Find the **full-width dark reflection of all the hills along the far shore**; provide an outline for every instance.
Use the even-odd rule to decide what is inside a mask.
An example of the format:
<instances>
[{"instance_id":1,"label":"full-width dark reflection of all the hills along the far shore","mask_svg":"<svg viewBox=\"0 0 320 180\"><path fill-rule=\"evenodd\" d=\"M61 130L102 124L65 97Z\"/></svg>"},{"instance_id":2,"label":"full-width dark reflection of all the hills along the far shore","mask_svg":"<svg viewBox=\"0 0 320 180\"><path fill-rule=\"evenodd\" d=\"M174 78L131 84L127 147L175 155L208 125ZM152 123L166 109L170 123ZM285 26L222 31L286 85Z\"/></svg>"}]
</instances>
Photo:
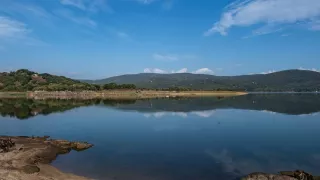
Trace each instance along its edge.
<instances>
[{"instance_id":1,"label":"full-width dark reflection of all the hills along the far shore","mask_svg":"<svg viewBox=\"0 0 320 180\"><path fill-rule=\"evenodd\" d=\"M151 100L34 100L0 99L1 116L27 119L82 106L99 105L138 112L192 112L215 109L266 110L284 114L310 114L320 111L319 94L257 94L232 98L182 98Z\"/></svg>"}]
</instances>

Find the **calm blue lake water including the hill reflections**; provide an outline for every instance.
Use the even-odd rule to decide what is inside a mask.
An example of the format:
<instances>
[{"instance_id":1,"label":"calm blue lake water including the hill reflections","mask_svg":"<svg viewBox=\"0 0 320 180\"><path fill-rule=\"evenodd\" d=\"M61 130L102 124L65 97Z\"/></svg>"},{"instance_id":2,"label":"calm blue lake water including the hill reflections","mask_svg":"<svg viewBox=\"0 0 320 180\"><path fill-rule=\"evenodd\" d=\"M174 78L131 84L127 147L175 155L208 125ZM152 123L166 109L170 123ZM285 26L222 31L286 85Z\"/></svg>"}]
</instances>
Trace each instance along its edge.
<instances>
[{"instance_id":1,"label":"calm blue lake water including the hill reflections","mask_svg":"<svg viewBox=\"0 0 320 180\"><path fill-rule=\"evenodd\" d=\"M95 146L59 156L65 172L108 180L234 180L320 174L320 94L110 100L0 99L1 135Z\"/></svg>"}]
</instances>

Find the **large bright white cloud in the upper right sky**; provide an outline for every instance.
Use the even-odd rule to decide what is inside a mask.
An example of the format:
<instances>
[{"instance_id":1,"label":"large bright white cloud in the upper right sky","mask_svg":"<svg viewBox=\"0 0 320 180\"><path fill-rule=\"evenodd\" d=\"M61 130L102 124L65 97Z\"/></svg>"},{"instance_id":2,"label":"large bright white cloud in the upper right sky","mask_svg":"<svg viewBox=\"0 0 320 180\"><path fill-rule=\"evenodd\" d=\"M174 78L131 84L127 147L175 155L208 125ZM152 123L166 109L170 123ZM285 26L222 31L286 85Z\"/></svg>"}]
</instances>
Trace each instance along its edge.
<instances>
[{"instance_id":1,"label":"large bright white cloud in the upper right sky","mask_svg":"<svg viewBox=\"0 0 320 180\"><path fill-rule=\"evenodd\" d=\"M262 35L279 31L283 25L317 22L319 19L319 0L237 0L225 8L221 19L205 35L227 35L228 30L235 26L264 24L266 30L253 32ZM317 27L315 25L313 29L318 30Z\"/></svg>"}]
</instances>

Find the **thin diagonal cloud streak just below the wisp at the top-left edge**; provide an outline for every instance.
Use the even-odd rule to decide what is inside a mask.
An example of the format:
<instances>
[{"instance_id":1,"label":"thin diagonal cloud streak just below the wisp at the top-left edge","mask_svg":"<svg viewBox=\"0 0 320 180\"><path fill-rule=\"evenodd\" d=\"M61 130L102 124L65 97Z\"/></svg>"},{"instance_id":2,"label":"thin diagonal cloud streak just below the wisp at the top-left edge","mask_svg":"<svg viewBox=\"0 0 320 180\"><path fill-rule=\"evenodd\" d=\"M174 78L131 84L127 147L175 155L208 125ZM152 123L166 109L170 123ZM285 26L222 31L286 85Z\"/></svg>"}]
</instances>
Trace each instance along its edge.
<instances>
[{"instance_id":1,"label":"thin diagonal cloud streak just below the wisp at the top-left edge","mask_svg":"<svg viewBox=\"0 0 320 180\"><path fill-rule=\"evenodd\" d=\"M85 17L85 16L77 16L73 13L73 11L69 11L67 9L59 9L59 10L55 10L53 12L55 15L60 16L62 18L65 18L69 21L72 21L74 23L80 24L80 25L84 25L87 27L91 27L94 28L97 26L97 23L92 20L89 17Z\"/></svg>"}]
</instances>

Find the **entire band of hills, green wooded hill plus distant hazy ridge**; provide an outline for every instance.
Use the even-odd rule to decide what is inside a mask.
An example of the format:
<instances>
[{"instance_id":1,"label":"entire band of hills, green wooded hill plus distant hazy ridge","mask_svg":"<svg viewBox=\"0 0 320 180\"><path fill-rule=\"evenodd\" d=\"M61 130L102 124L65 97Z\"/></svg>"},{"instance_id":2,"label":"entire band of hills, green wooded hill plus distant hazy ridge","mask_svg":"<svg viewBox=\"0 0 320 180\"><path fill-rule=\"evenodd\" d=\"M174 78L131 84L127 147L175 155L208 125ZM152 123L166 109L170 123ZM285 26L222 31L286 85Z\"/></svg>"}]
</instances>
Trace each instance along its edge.
<instances>
[{"instance_id":1,"label":"entire band of hills, green wooded hill plus distant hazy ridge","mask_svg":"<svg viewBox=\"0 0 320 180\"><path fill-rule=\"evenodd\" d=\"M127 89L126 85L129 84L130 87L139 89L162 90L319 92L320 73L307 70L285 70L270 74L242 76L142 73L101 80L74 80L64 76L37 73L26 69L0 73L0 91L96 91L110 89L109 87L114 87L112 89Z\"/></svg>"}]
</instances>

